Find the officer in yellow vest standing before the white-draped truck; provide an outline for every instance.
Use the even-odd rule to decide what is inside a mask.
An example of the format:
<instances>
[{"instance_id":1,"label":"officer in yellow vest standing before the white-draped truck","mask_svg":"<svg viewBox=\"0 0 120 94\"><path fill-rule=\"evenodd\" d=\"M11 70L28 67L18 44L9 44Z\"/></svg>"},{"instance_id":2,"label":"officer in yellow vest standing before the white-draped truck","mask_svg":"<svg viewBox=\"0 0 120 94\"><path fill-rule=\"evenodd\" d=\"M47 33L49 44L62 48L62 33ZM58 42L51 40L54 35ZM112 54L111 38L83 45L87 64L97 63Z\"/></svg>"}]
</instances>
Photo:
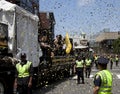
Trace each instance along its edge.
<instances>
[{"instance_id":1,"label":"officer in yellow vest standing before the white-draped truck","mask_svg":"<svg viewBox=\"0 0 120 94\"><path fill-rule=\"evenodd\" d=\"M18 94L32 94L32 62L26 60L26 53L21 53L21 61L16 64L14 89Z\"/></svg>"}]
</instances>

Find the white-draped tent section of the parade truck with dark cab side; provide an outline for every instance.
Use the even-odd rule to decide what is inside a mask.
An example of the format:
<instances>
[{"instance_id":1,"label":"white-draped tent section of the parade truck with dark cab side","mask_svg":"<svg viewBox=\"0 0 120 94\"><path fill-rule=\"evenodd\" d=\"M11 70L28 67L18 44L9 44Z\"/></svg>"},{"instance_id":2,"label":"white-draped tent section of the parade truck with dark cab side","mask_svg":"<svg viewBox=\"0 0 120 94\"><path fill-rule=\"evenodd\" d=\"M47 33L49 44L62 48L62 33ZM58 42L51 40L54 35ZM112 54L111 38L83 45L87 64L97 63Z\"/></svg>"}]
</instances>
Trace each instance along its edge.
<instances>
[{"instance_id":1,"label":"white-draped tent section of the parade truck with dark cab side","mask_svg":"<svg viewBox=\"0 0 120 94\"><path fill-rule=\"evenodd\" d=\"M38 17L23 8L0 1L0 93L12 94L15 63L24 51L33 67L39 63Z\"/></svg>"}]
</instances>

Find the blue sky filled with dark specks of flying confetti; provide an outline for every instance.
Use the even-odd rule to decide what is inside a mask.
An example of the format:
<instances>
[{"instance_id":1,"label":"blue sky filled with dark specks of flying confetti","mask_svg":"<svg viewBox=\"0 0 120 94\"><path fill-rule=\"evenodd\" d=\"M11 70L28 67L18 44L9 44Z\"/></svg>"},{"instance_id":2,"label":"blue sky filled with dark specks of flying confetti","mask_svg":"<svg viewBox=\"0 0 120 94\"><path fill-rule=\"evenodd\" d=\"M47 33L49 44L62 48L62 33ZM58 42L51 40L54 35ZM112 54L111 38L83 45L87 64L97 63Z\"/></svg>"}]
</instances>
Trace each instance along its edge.
<instances>
[{"instance_id":1,"label":"blue sky filled with dark specks of flying confetti","mask_svg":"<svg viewBox=\"0 0 120 94\"><path fill-rule=\"evenodd\" d=\"M40 0L40 11L54 13L56 35L120 31L120 0Z\"/></svg>"}]
</instances>

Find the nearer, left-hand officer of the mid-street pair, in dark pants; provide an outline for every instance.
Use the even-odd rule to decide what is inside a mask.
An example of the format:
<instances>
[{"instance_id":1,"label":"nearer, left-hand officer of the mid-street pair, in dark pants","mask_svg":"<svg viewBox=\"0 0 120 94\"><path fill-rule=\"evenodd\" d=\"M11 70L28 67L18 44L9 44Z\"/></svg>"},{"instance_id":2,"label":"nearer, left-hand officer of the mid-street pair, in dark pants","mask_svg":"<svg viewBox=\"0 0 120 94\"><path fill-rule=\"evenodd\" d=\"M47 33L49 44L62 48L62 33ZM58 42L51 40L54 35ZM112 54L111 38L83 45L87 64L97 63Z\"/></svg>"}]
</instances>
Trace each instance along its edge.
<instances>
[{"instance_id":1,"label":"nearer, left-hand officer of the mid-street pair, in dark pants","mask_svg":"<svg viewBox=\"0 0 120 94\"><path fill-rule=\"evenodd\" d=\"M77 72L77 84L80 84L80 78L82 79L82 84L84 84L84 61L82 60L82 57L78 57L78 60L76 61L76 72Z\"/></svg>"}]
</instances>

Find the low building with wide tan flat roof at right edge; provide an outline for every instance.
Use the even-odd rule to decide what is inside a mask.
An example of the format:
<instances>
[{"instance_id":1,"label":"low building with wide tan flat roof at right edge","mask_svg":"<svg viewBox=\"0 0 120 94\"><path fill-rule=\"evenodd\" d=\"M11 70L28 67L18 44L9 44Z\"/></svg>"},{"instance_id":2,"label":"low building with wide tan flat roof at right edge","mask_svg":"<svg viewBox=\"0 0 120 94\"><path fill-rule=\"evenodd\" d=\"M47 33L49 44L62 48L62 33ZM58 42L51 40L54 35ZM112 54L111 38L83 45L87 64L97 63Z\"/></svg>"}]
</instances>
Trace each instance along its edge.
<instances>
[{"instance_id":1,"label":"low building with wide tan flat roof at right edge","mask_svg":"<svg viewBox=\"0 0 120 94\"><path fill-rule=\"evenodd\" d=\"M119 37L119 32L101 32L95 39L98 45L98 53L111 53L113 41Z\"/></svg>"}]
</instances>

